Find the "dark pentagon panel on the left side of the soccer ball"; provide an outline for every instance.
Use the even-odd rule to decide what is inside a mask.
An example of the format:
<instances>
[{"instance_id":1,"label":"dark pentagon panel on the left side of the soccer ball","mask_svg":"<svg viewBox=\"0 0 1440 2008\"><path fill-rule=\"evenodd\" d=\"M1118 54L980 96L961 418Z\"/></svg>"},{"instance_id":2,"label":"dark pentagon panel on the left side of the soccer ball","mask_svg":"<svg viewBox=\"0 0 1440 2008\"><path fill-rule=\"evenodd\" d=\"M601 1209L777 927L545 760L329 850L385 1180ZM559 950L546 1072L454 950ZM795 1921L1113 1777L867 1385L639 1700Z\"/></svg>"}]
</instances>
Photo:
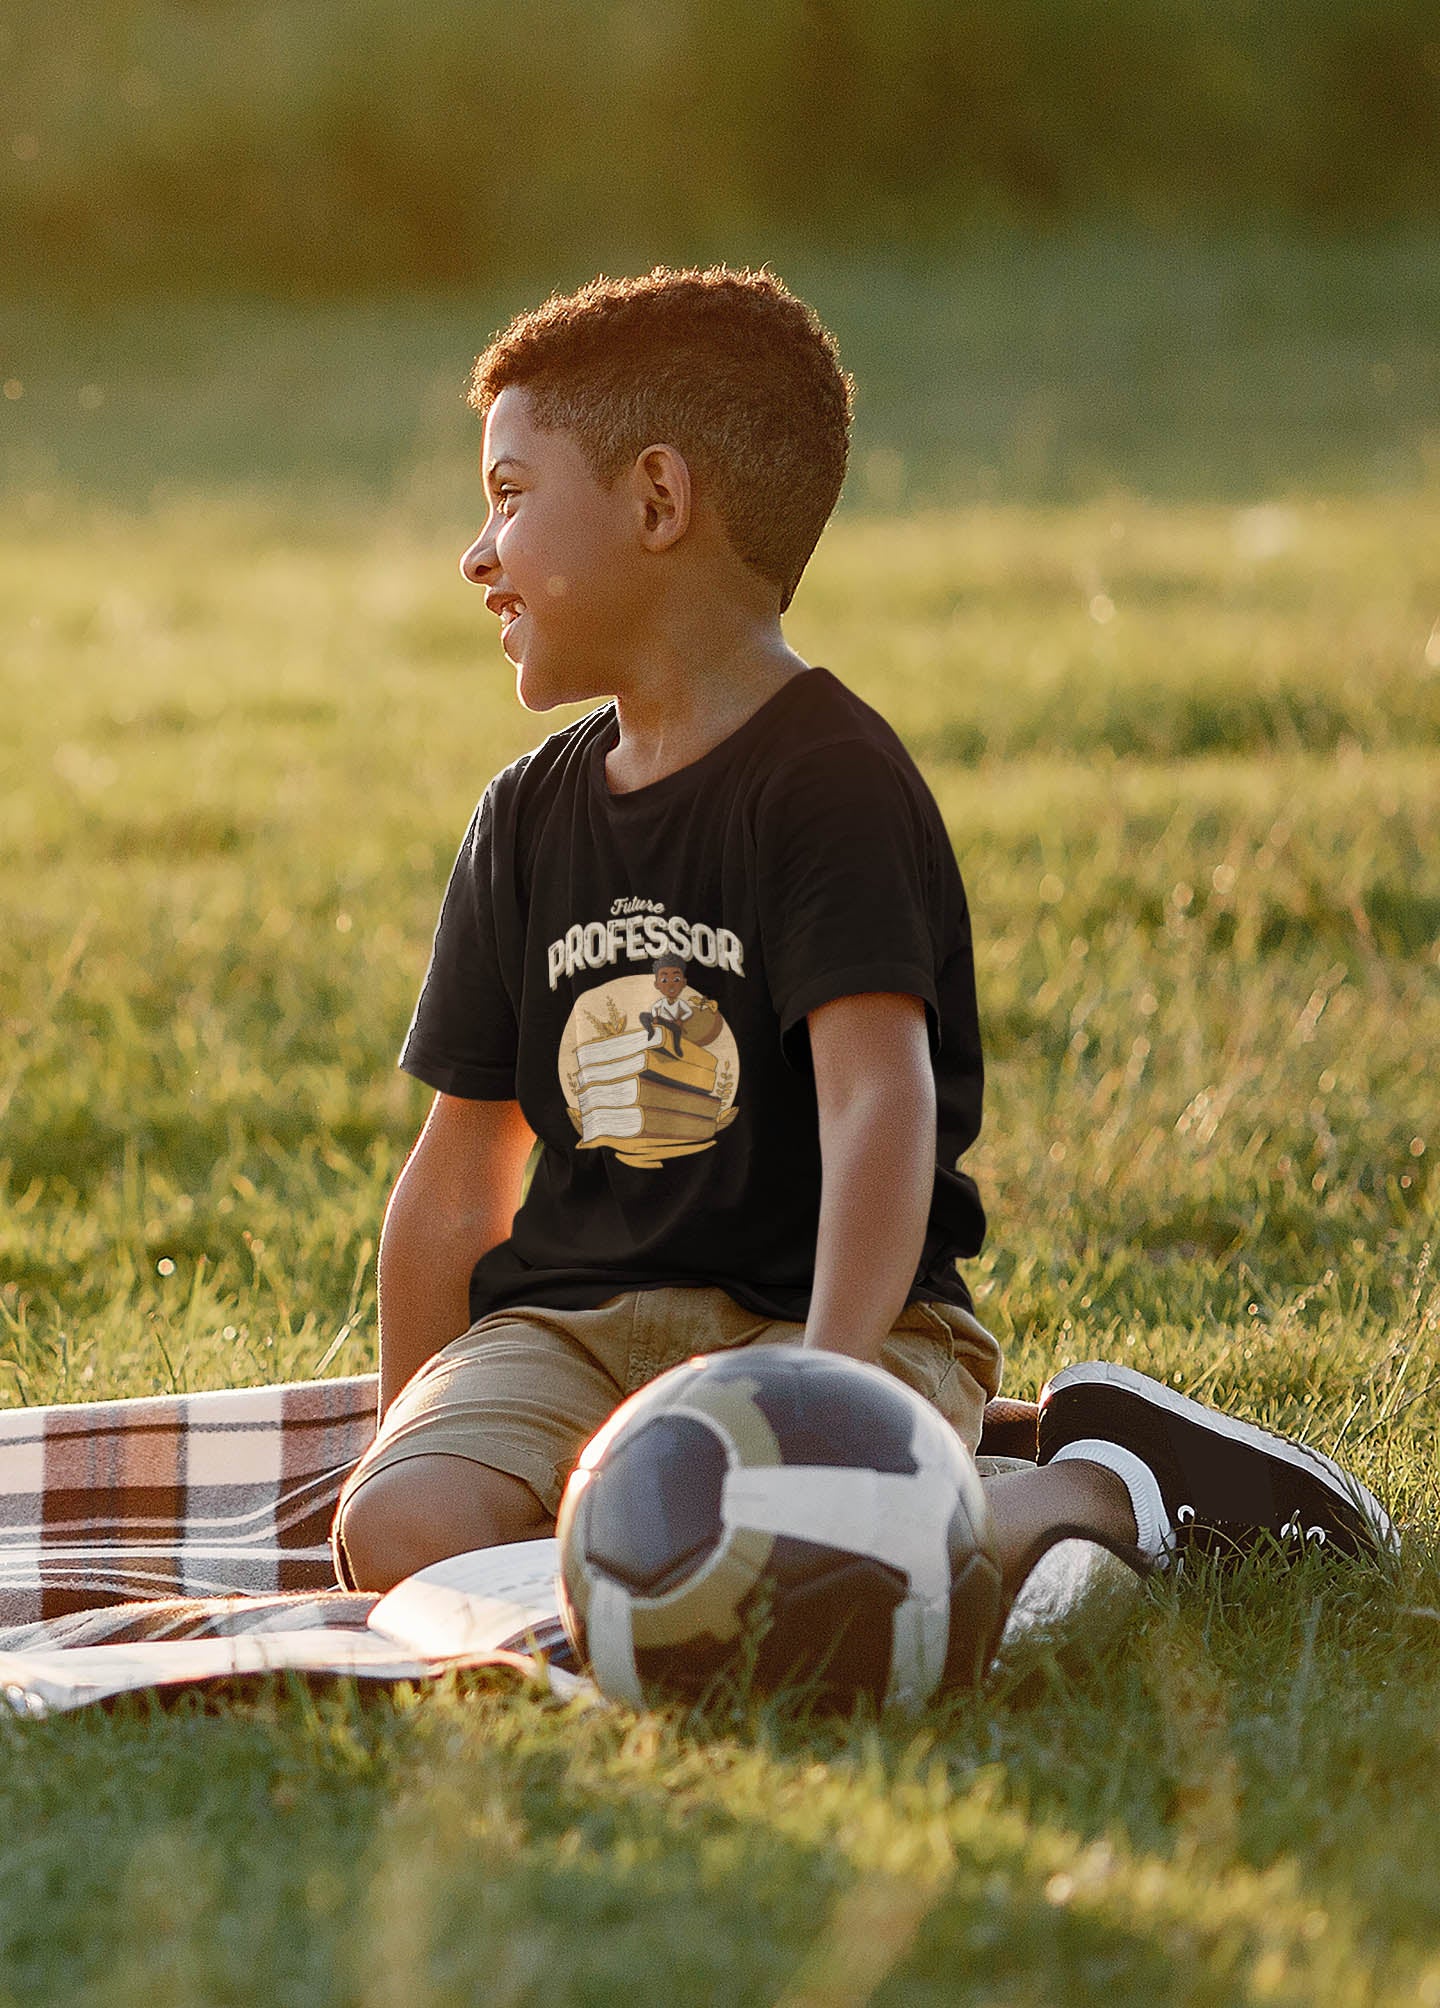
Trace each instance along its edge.
<instances>
[{"instance_id":1,"label":"dark pentagon panel on the left side of the soccer ball","mask_svg":"<svg viewBox=\"0 0 1440 2008\"><path fill-rule=\"evenodd\" d=\"M590 1478L584 1548L627 1590L663 1596L725 1532L725 1444L691 1416L653 1416Z\"/></svg>"}]
</instances>

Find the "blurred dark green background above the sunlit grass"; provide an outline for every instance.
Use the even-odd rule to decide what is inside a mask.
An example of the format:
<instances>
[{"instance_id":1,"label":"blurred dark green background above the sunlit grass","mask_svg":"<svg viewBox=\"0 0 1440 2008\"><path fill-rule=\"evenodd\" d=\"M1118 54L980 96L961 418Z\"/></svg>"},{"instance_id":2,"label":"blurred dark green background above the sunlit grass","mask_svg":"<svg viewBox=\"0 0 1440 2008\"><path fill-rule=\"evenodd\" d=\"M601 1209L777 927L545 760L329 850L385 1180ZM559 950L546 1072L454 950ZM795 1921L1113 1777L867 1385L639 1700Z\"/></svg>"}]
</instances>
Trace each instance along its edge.
<instances>
[{"instance_id":1,"label":"blurred dark green background above the sunlit grass","mask_svg":"<svg viewBox=\"0 0 1440 2008\"><path fill-rule=\"evenodd\" d=\"M452 520L488 331L715 257L837 329L850 506L1404 490L1440 470L1440 14L10 0L0 245L32 514L221 482Z\"/></svg>"}]
</instances>

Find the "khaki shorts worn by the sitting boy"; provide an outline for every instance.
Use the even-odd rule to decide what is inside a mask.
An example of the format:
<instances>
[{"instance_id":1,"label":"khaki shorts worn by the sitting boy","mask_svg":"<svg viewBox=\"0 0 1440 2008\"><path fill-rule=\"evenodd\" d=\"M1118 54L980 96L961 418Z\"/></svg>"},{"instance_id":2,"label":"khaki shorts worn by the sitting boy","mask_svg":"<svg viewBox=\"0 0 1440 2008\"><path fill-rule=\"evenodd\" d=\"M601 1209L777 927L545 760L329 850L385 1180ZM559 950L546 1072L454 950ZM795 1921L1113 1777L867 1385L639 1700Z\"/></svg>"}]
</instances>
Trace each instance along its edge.
<instances>
[{"instance_id":1,"label":"khaki shorts worn by the sitting boy","mask_svg":"<svg viewBox=\"0 0 1440 2008\"><path fill-rule=\"evenodd\" d=\"M637 1388L693 1353L795 1345L803 1331L703 1287L635 1289L590 1311L492 1311L400 1390L345 1480L339 1510L378 1470L446 1456L520 1478L554 1514L576 1458ZM952 1303L912 1303L880 1361L974 1450L984 1404L1000 1386L1000 1347L984 1325Z\"/></svg>"}]
</instances>

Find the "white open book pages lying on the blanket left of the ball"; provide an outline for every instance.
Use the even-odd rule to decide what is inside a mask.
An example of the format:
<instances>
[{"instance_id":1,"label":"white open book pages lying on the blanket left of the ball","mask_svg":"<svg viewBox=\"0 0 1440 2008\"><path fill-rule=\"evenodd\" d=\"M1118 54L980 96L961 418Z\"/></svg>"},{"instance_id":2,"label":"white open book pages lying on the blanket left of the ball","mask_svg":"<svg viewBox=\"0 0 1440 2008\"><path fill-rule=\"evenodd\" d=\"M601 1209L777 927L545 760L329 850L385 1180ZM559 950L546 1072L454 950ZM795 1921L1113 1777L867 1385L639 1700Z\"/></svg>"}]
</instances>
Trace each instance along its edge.
<instances>
[{"instance_id":1,"label":"white open book pages lying on the blanket left of the ball","mask_svg":"<svg viewBox=\"0 0 1440 2008\"><path fill-rule=\"evenodd\" d=\"M267 1673L426 1681L452 1667L508 1667L542 1679L558 1697L592 1695L588 1681L544 1659L562 1637L556 1566L554 1540L524 1540L406 1576L364 1626L0 1653L0 1701L16 1715L40 1717L114 1695ZM315 1598L297 1602L313 1608Z\"/></svg>"}]
</instances>

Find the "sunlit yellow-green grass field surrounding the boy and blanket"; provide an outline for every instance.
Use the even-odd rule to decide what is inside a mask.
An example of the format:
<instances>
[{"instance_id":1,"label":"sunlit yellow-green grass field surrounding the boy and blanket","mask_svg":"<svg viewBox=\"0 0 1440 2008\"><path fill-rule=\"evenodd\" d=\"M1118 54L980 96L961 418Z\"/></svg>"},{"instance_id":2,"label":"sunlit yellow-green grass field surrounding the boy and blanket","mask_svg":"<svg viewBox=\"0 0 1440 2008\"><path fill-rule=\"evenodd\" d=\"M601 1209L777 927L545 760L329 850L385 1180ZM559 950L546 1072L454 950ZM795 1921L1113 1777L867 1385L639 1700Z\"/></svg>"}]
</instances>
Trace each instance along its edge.
<instances>
[{"instance_id":1,"label":"sunlit yellow-green grass field surrounding the boy and blanket","mask_svg":"<svg viewBox=\"0 0 1440 2008\"><path fill-rule=\"evenodd\" d=\"M42 450L0 552L0 1394L359 1371L394 1052L536 721L404 484L237 496L197 448L135 506ZM966 873L1010 1392L1123 1357L1338 1448L1398 1578L1165 1584L920 1733L0 1721L0 2002L1440 2004L1440 492L1281 488L856 508L791 639Z\"/></svg>"}]
</instances>

